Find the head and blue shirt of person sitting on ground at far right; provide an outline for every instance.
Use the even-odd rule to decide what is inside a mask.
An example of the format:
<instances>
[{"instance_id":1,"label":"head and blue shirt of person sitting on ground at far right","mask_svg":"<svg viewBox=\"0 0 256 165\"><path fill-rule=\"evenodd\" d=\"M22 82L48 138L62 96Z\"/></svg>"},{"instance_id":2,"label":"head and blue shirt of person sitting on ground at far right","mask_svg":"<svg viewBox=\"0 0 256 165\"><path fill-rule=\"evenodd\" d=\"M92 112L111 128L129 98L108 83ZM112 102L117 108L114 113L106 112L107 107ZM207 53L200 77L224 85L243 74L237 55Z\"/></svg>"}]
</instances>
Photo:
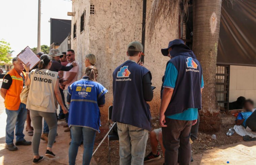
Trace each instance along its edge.
<instances>
[{"instance_id":1,"label":"head and blue shirt of person sitting on ground at far right","mask_svg":"<svg viewBox=\"0 0 256 165\"><path fill-rule=\"evenodd\" d=\"M246 100L244 102L245 112L240 112L237 115L235 124L236 125L243 125L246 128L246 120L248 119L248 117L251 116L251 114L253 112L253 108L254 108L254 102L251 99Z\"/></svg>"}]
</instances>

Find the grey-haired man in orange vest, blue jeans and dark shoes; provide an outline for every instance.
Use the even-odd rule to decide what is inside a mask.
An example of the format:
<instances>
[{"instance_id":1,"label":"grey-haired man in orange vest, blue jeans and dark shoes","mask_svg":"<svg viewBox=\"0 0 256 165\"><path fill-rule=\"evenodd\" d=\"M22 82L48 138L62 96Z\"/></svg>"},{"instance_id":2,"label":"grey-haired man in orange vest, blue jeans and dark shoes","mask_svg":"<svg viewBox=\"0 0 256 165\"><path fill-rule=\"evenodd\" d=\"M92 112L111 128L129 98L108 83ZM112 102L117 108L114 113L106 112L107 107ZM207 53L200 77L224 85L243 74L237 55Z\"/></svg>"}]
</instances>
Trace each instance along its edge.
<instances>
[{"instance_id":1,"label":"grey-haired man in orange vest, blue jeans and dark shoes","mask_svg":"<svg viewBox=\"0 0 256 165\"><path fill-rule=\"evenodd\" d=\"M25 86L26 73L23 62L14 57L12 59L13 69L10 70L3 79L1 87L1 96L4 98L4 105L7 114L6 119L6 148L10 151L16 151L19 145L28 146L31 142L24 139L23 129L27 119L26 105L21 103L20 94ZM16 143L13 145L14 127Z\"/></svg>"}]
</instances>

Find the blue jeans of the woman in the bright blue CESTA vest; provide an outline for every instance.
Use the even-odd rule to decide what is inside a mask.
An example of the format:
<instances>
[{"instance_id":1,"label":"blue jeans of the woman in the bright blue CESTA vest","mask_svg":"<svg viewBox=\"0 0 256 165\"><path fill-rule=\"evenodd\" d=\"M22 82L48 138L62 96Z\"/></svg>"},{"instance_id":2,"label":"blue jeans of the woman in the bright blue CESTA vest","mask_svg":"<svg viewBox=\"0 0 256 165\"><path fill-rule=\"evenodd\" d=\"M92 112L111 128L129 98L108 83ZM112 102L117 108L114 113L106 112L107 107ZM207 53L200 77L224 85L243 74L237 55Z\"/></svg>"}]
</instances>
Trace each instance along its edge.
<instances>
[{"instance_id":1,"label":"blue jeans of the woman in the bright blue CESTA vest","mask_svg":"<svg viewBox=\"0 0 256 165\"><path fill-rule=\"evenodd\" d=\"M83 165L89 165L93 155L96 130L86 127L71 126L72 140L69 147L69 165L74 165L78 147L83 137ZM82 136L83 135L83 136Z\"/></svg>"}]
</instances>

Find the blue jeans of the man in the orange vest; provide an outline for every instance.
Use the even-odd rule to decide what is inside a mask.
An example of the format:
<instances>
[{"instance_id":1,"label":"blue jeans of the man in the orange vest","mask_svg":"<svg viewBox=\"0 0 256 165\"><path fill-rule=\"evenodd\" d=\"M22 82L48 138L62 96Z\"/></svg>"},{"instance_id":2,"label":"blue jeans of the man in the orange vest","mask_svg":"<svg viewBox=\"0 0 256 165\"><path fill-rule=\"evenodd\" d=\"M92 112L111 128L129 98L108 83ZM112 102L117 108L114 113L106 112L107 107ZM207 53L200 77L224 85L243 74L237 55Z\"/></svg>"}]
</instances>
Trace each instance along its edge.
<instances>
[{"instance_id":1,"label":"blue jeans of the man in the orange vest","mask_svg":"<svg viewBox=\"0 0 256 165\"><path fill-rule=\"evenodd\" d=\"M21 103L17 111L5 109L5 112L7 114L6 135L5 135L5 141L7 145L13 144L14 127L16 127L15 129L16 142L23 141L25 136L23 134L23 129L24 129L25 121L27 119L26 105Z\"/></svg>"}]
</instances>

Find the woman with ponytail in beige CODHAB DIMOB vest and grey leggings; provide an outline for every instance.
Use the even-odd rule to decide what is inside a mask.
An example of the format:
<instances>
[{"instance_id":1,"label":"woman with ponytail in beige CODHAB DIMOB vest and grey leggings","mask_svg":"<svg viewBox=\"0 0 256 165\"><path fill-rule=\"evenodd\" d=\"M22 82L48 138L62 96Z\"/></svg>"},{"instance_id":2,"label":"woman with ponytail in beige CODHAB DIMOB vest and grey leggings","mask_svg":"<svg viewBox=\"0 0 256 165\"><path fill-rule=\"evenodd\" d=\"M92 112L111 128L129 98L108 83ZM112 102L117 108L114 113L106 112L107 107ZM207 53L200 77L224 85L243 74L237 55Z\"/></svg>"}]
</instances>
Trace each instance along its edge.
<instances>
[{"instance_id":1,"label":"woman with ponytail in beige CODHAB DIMOB vest and grey leggings","mask_svg":"<svg viewBox=\"0 0 256 165\"><path fill-rule=\"evenodd\" d=\"M56 99L61 105L63 112L68 113L59 90L58 72L49 70L51 67L51 57L44 54L40 59L38 69L32 70L25 80L26 86L30 85L26 108L30 110L30 117L34 126L32 138L33 164L43 160L43 156L39 156L38 152L42 133L42 118L49 125L48 145L45 156L53 158L55 155L52 153L51 148L57 134ZM29 65L26 65L25 69L29 69Z\"/></svg>"}]
</instances>

